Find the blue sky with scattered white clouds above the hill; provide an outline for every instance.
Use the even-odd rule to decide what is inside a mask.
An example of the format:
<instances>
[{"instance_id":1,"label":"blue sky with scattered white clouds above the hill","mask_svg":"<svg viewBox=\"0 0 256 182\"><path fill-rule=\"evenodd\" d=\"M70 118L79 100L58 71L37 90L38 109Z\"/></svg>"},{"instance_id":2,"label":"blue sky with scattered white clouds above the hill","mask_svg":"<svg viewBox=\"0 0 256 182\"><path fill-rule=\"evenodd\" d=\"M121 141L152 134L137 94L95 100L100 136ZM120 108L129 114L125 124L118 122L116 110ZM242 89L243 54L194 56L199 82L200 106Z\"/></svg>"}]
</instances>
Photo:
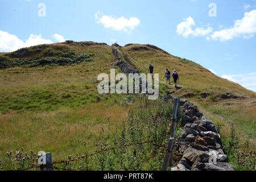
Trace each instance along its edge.
<instances>
[{"instance_id":1,"label":"blue sky with scattered white clouds above the hill","mask_svg":"<svg viewBox=\"0 0 256 182\"><path fill-rule=\"evenodd\" d=\"M256 92L255 0L0 0L0 22L0 52L65 40L153 44Z\"/></svg>"}]
</instances>

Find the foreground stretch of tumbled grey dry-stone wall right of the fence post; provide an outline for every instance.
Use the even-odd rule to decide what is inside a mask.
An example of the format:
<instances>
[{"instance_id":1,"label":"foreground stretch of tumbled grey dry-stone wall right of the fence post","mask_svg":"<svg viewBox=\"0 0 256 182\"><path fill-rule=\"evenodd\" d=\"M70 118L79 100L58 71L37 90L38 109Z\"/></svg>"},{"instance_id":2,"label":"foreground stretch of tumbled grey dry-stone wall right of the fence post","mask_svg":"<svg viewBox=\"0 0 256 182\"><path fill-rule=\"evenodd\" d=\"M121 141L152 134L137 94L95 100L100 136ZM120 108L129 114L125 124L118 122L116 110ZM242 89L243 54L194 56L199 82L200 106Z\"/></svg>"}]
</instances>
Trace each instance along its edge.
<instances>
[{"instance_id":1,"label":"foreground stretch of tumbled grey dry-stone wall right of the fence post","mask_svg":"<svg viewBox=\"0 0 256 182\"><path fill-rule=\"evenodd\" d=\"M214 123L187 100L181 99L180 106L185 122L175 143L180 171L233 171L232 164L226 163L227 156ZM177 167L171 169L177 171Z\"/></svg>"}]
</instances>

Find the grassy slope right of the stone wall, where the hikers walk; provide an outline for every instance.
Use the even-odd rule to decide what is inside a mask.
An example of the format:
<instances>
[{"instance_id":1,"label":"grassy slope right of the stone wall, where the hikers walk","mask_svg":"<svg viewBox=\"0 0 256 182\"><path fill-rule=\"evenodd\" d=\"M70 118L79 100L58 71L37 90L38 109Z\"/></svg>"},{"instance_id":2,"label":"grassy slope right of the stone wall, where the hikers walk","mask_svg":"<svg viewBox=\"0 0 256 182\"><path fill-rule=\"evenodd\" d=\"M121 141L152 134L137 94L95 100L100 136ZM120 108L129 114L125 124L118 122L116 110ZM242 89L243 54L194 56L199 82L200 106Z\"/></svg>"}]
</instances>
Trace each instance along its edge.
<instances>
[{"instance_id":1,"label":"grassy slope right of the stone wall, where the hikers walk","mask_svg":"<svg viewBox=\"0 0 256 182\"><path fill-rule=\"evenodd\" d=\"M148 50L145 50L147 49ZM179 57L168 55L162 51L149 48L146 45L133 44L119 49L126 57L133 61L135 67L141 72L147 72L148 64L153 64L155 73L159 73L160 82L166 82L164 71L176 69L180 75L178 85L183 88L176 90L174 85L170 86L170 92L174 91L174 95L184 97L188 93L195 94L188 98L191 102L198 105L200 110L204 112L214 122L224 125L222 127L222 135L228 137L228 122L234 122L237 125L237 132L242 140L249 137L255 144L256 138L256 104L243 105L225 105L226 102L246 103L255 101L256 93L243 88L242 86L220 78L201 65L192 61L180 59ZM211 96L201 98L200 93L207 92ZM218 95L224 93L233 93L237 96L246 96L245 99L220 100ZM245 138L244 138L245 137Z\"/></svg>"}]
</instances>

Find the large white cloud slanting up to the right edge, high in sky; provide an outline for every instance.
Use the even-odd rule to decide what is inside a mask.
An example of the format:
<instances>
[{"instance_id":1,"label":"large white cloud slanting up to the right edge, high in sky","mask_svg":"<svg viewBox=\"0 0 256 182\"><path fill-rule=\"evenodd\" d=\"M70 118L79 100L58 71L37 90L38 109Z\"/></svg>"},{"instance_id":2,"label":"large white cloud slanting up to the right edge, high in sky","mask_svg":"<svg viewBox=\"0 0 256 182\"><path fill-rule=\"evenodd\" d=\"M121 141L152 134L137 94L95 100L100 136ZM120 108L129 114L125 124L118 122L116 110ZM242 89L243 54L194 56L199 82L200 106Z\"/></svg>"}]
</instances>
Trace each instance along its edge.
<instances>
[{"instance_id":1,"label":"large white cloud slanting up to the right edge, high in sky","mask_svg":"<svg viewBox=\"0 0 256 182\"><path fill-rule=\"evenodd\" d=\"M220 40L224 42L240 36L248 39L253 37L255 33L256 10L252 10L250 12L246 12L242 19L236 20L233 27L213 32L213 34L208 36L207 39Z\"/></svg>"}]
</instances>

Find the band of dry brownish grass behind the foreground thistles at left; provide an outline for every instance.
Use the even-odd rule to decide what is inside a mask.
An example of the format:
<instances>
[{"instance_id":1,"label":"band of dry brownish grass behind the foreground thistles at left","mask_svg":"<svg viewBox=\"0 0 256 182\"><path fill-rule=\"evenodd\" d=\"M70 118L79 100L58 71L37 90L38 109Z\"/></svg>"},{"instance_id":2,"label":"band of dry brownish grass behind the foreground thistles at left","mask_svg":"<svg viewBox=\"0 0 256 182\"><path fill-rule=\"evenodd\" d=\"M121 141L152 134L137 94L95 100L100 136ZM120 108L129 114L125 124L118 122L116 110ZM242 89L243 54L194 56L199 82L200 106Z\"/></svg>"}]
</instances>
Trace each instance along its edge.
<instances>
[{"instance_id":1,"label":"band of dry brownish grass behind the foreground thistles at left","mask_svg":"<svg viewBox=\"0 0 256 182\"><path fill-rule=\"evenodd\" d=\"M52 151L55 160L79 154L83 140L90 141L89 148L99 140L110 142L132 107L94 104L76 110L0 115L0 154L22 147L25 151Z\"/></svg>"}]
</instances>

